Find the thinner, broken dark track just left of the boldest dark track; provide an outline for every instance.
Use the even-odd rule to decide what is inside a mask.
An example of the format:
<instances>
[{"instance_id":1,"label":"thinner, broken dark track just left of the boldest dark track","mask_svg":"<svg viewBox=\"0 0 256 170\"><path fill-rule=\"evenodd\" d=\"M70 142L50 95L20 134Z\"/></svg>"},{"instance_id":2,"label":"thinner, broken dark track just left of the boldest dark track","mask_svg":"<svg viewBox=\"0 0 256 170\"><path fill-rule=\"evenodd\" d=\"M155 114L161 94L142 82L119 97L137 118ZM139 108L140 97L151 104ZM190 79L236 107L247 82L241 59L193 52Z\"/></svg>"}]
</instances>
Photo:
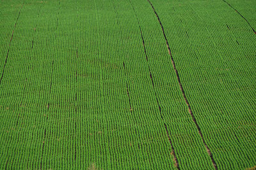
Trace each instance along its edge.
<instances>
[{"instance_id":1,"label":"thinner, broken dark track just left of the boldest dark track","mask_svg":"<svg viewBox=\"0 0 256 170\"><path fill-rule=\"evenodd\" d=\"M131 0L129 0L129 1L130 1L130 3L131 3ZM138 16L137 16L137 14L136 14L136 11L135 11L134 6L133 6L132 3L131 3L131 6L132 6L132 9L133 9L134 14L135 14L135 16L136 16L136 19L137 19L137 22L138 22L138 26L139 26L139 28L140 28L140 35L141 35L141 39L142 39L142 43L143 43L144 53L145 53L146 60L147 60L147 62L148 62L148 55L147 55L147 50L146 50L146 48L145 48L145 40L144 40L144 38L143 38L143 34L142 34L141 26L140 26L140 21L139 21L139 19L138 19ZM153 89L154 89L154 93L155 93L155 96L156 96L156 102L157 102L157 106L158 106L158 108L159 108L159 113L160 113L161 119L164 120L163 115L162 115L162 111L161 111L161 106L160 106L159 101L158 101L158 97L157 97L157 93L156 93L156 88L155 88L155 85L154 85L154 80L153 80L153 76L152 76L152 73L151 73L149 64L148 64L148 72L149 72L149 76L150 76L150 80L151 80L151 83L152 83L152 87L153 87ZM163 123L164 123L164 122L163 122ZM173 147L173 143L172 143L172 140L171 140L171 138L170 138L170 134L169 134L169 132L168 132L167 125L166 125L165 123L164 123L164 129L165 129L165 131L166 131L166 134L167 134L169 143L170 143L171 148L172 148L172 153L171 153L171 154L173 155L173 162L174 162L174 165L175 165L175 167L177 167L177 169L180 169L179 163L178 163L178 160L177 160L177 156L176 156L176 154L175 154L175 150L174 150L174 147Z\"/></svg>"}]
</instances>

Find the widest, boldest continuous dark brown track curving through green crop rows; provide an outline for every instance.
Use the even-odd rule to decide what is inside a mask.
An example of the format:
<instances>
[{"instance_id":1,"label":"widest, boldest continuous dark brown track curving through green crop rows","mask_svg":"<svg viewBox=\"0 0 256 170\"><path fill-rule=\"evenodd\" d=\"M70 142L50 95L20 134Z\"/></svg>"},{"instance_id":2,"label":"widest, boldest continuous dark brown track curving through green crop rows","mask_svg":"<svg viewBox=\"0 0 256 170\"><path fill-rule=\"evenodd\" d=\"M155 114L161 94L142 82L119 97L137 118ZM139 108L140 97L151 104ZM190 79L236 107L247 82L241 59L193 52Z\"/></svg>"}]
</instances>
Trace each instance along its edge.
<instances>
[{"instance_id":1,"label":"widest, boldest continuous dark brown track curving through green crop rows","mask_svg":"<svg viewBox=\"0 0 256 170\"><path fill-rule=\"evenodd\" d=\"M171 50L170 50L170 46L169 46L168 40L167 40L166 35L165 35L165 32L164 32L163 24L161 23L161 20L160 20L160 18L159 18L159 16L158 16L158 14L157 14L157 12L156 12L156 10L155 10L153 4L150 2L150 0L147 0L147 1L148 1L148 3L150 4L150 6L152 7L152 10L153 10L154 13L156 14L157 20L158 20L159 24L161 25L161 29L162 29L162 32L163 32L163 36L164 36L164 39L165 39L165 41L166 41L166 46L167 46L167 48L168 48L168 53L169 53L169 55L170 55L170 57L171 57L171 60L172 60L172 66L173 66L173 69L174 69L174 71L175 71L175 73L176 73L176 77L177 77L177 80L178 80L178 82L179 82L179 87L180 87L180 90L181 90L181 92L182 92L182 96L183 96L183 98L184 98L184 100L185 100L185 102L186 102L186 104L187 104L187 106L188 106L189 114L191 115L191 117L192 117L192 119L193 119L193 122L194 122L195 125L196 125L196 128L197 128L197 130L198 130L198 133L199 133L199 135L200 135L200 137L201 137L201 139L202 139L202 141L203 141L203 143L204 143L204 146L205 146L205 148L206 148L206 150L207 150L207 153L208 153L209 157L211 157L211 161L212 161L212 165L214 166L214 169L218 169L218 167L216 166L216 162L215 162L215 160L214 160L213 157L212 157L211 150L209 149L209 147L208 147L207 144L205 143L204 136L203 136L203 134L202 134L202 132L201 132L201 129L200 129L198 123L196 122L195 115L193 114L193 112L192 112L192 110L191 110L191 107L190 107L190 105L189 105L189 103L188 103L188 99L187 99L187 97L186 97L186 95L185 95L185 92L184 92L184 89L183 89L183 87L182 87L182 83L181 83L181 81L180 81L179 73L178 73L178 70L177 70L177 68L176 68L176 66L175 66L175 62L174 62L173 57L172 57L172 53L171 53Z\"/></svg>"}]
</instances>

